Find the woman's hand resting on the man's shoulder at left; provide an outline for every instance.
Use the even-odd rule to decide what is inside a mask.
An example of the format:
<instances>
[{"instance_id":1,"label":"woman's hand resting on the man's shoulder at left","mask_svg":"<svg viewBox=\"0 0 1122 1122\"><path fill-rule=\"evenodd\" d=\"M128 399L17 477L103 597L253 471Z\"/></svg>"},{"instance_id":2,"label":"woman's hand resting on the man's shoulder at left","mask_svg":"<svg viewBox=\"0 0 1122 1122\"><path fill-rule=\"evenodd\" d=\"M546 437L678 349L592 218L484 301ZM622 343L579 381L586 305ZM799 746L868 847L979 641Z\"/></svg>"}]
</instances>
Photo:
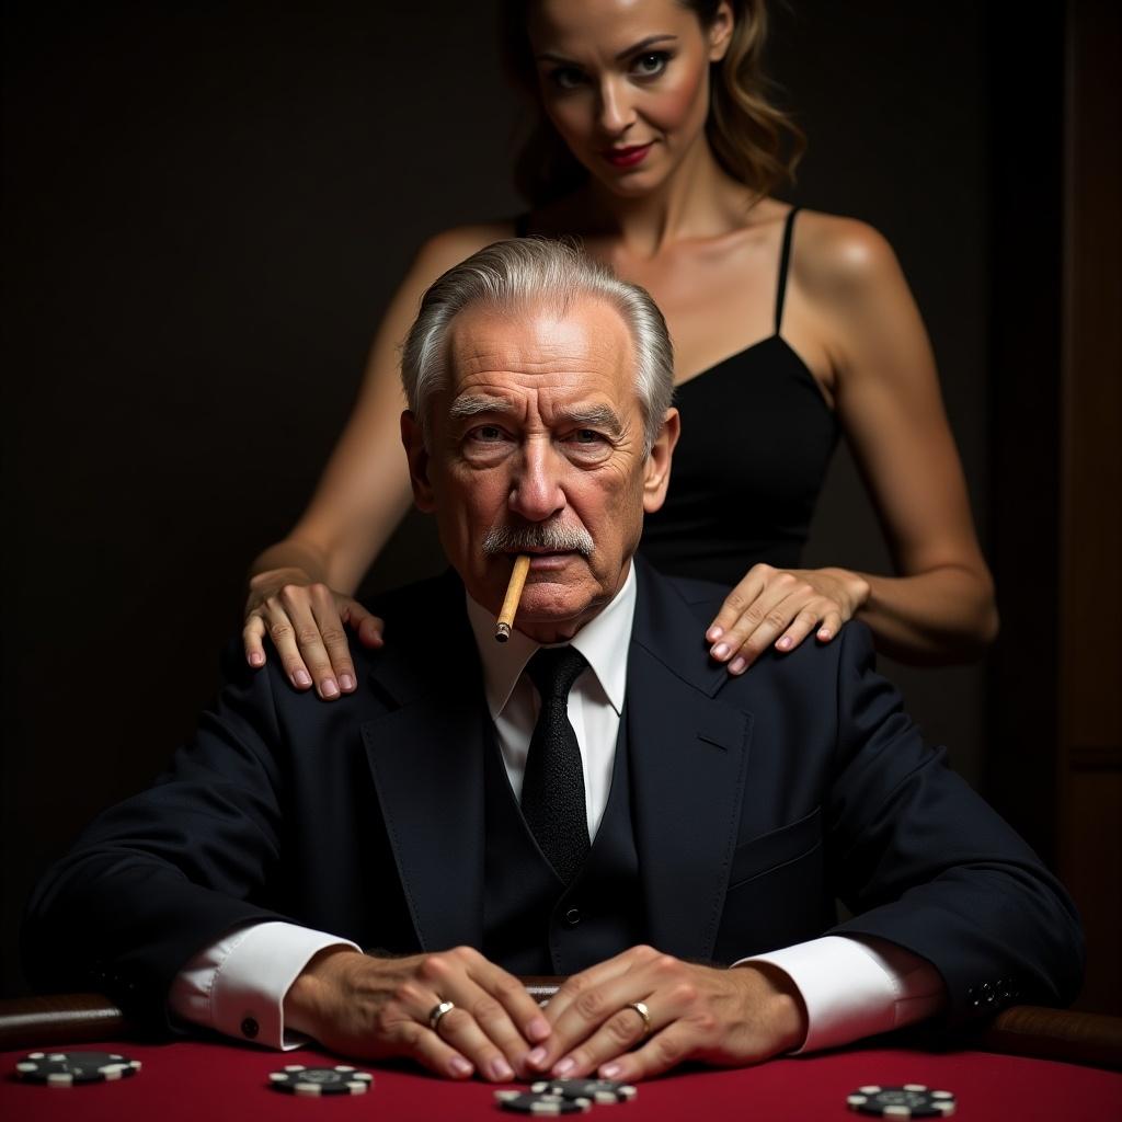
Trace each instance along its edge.
<instances>
[{"instance_id":1,"label":"woman's hand resting on the man's shoulder at left","mask_svg":"<svg viewBox=\"0 0 1122 1122\"><path fill-rule=\"evenodd\" d=\"M358 675L347 628L364 646L381 646L383 622L358 600L313 581L301 569L274 569L250 581L246 625L241 631L246 661L265 665L265 636L276 647L288 681L297 690L312 686L324 701L353 693Z\"/></svg>"}]
</instances>

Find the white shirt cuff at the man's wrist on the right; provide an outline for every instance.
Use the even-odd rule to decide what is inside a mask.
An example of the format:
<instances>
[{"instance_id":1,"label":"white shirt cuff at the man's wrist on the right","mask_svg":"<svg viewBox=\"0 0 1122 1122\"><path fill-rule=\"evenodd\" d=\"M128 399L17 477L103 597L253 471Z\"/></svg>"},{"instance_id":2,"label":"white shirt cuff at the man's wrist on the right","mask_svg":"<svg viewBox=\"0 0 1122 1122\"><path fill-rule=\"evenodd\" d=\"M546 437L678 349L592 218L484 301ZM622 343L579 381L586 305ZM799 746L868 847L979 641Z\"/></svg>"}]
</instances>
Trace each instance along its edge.
<instances>
[{"instance_id":1,"label":"white shirt cuff at the man's wrist on the right","mask_svg":"<svg viewBox=\"0 0 1122 1122\"><path fill-rule=\"evenodd\" d=\"M827 935L734 966L769 963L794 983L807 1009L797 1052L837 1048L937 1013L946 1000L939 972L885 939Z\"/></svg>"}]
</instances>

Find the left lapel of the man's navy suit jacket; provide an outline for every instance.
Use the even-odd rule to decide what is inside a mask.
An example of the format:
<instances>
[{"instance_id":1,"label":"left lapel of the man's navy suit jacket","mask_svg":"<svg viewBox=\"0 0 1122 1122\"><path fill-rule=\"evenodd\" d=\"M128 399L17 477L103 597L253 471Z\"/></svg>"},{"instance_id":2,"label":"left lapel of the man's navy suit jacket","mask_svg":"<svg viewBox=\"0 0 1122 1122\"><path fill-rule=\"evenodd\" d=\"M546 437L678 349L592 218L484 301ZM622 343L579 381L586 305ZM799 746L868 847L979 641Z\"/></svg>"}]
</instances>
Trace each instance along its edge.
<instances>
[{"instance_id":1,"label":"left lapel of the man's navy suit jacket","mask_svg":"<svg viewBox=\"0 0 1122 1122\"><path fill-rule=\"evenodd\" d=\"M482 945L486 828L479 656L460 585L445 581L434 601L425 606L432 626L414 616L410 631L431 637L439 628L439 662L395 631L373 675L388 711L362 726L413 926L429 951Z\"/></svg>"}]
</instances>

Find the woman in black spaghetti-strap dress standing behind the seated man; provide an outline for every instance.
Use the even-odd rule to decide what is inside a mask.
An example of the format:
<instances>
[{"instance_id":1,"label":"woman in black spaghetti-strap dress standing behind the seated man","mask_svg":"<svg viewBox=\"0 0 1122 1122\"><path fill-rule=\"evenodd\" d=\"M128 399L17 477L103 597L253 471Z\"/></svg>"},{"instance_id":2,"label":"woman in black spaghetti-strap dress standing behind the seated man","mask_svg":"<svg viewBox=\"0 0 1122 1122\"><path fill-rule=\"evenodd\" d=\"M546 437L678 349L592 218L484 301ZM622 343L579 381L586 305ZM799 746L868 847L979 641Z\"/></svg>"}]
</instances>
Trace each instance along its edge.
<instances>
[{"instance_id":1,"label":"woman in black spaghetti-strap dress standing behind the seated man","mask_svg":"<svg viewBox=\"0 0 1122 1122\"><path fill-rule=\"evenodd\" d=\"M517 168L534 210L421 250L310 507L254 564L250 663L270 635L297 688L356 688L344 628L368 644L381 635L351 594L410 503L396 348L429 284L523 233L580 238L665 314L683 435L643 551L736 585L705 636L729 672L769 645L828 642L853 617L904 661L955 661L992 641L992 581L892 250L861 222L795 219L770 197L793 164L784 136L799 138L763 95L763 0L507 0L504 26L542 110ZM838 427L894 576L797 568Z\"/></svg>"}]
</instances>

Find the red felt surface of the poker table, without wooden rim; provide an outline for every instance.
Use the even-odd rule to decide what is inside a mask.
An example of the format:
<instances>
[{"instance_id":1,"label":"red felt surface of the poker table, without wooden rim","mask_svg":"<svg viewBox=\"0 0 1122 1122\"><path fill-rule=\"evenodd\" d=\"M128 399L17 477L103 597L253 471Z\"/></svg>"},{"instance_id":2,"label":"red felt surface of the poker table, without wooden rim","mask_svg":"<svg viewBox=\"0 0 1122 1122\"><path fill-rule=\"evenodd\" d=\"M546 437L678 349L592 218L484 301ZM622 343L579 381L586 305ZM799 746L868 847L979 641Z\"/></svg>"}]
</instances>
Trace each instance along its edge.
<instances>
[{"instance_id":1,"label":"red felt surface of the poker table, without wooden rim","mask_svg":"<svg viewBox=\"0 0 1122 1122\"><path fill-rule=\"evenodd\" d=\"M362 1065L374 1074L365 1095L307 1098L268 1086L270 1072L286 1064L333 1066L316 1049L277 1054L240 1043L85 1042L74 1048L117 1051L141 1061L140 1072L111 1083L47 1087L15 1076L28 1050L0 1054L0 1118L21 1122L200 1122L251 1119L392 1119L456 1122L512 1118L498 1110L495 1086L452 1083L399 1066ZM48 1050L66 1050L53 1042ZM1057 1060L977 1050L930 1052L893 1047L855 1047L803 1058L776 1059L739 1070L692 1069L642 1083L637 1096L591 1113L619 1122L669 1122L700 1114L756 1122L856 1119L846 1095L866 1084L922 1083L953 1091L962 1122L1039 1119L1080 1122L1122 1119L1122 1074Z\"/></svg>"}]
</instances>

